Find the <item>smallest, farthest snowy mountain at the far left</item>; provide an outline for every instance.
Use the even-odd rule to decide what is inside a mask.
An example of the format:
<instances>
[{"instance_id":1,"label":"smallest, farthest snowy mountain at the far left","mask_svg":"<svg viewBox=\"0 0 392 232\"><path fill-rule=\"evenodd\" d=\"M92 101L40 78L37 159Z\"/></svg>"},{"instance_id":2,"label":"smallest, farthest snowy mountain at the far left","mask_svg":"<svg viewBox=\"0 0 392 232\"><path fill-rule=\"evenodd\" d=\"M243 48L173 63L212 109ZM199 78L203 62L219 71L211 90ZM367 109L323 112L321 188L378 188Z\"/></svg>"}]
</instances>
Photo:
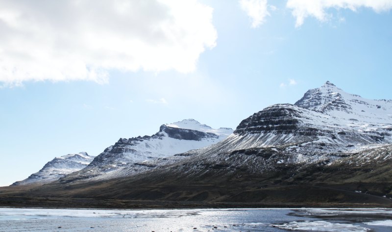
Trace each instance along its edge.
<instances>
[{"instance_id":1,"label":"smallest, farthest snowy mountain at the far left","mask_svg":"<svg viewBox=\"0 0 392 232\"><path fill-rule=\"evenodd\" d=\"M58 180L72 172L85 168L93 161L94 157L85 152L55 157L38 172L31 174L25 180L16 181L12 185L44 184Z\"/></svg>"}]
</instances>

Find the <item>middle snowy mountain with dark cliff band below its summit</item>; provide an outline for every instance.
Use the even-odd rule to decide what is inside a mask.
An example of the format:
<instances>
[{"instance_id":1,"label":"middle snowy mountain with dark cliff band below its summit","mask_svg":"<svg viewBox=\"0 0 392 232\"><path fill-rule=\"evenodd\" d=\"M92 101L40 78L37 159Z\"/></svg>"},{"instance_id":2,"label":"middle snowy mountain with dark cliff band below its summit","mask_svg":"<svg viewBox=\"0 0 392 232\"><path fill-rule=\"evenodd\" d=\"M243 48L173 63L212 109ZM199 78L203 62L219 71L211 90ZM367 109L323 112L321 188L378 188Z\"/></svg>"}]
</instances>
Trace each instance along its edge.
<instances>
[{"instance_id":1,"label":"middle snowy mountain with dark cliff band below its summit","mask_svg":"<svg viewBox=\"0 0 392 232\"><path fill-rule=\"evenodd\" d=\"M62 178L63 182L74 180L107 180L155 168L147 161L165 158L215 144L233 132L230 128L213 129L194 119L184 119L165 124L151 136L120 138L106 148L84 169Z\"/></svg>"}]
</instances>

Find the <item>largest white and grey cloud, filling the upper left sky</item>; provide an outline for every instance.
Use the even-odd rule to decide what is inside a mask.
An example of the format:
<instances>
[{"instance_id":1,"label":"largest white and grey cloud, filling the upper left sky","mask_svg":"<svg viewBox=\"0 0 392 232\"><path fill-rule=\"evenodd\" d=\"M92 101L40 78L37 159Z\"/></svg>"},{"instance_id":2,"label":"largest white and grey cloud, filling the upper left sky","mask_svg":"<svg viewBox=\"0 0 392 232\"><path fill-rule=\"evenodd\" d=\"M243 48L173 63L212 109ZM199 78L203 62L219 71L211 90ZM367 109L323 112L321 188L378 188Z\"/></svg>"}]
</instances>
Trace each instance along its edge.
<instances>
[{"instance_id":1,"label":"largest white and grey cloud, filling the upper left sky","mask_svg":"<svg viewBox=\"0 0 392 232\"><path fill-rule=\"evenodd\" d=\"M216 45L197 0L0 1L0 82L108 81L108 71L192 72Z\"/></svg>"}]
</instances>

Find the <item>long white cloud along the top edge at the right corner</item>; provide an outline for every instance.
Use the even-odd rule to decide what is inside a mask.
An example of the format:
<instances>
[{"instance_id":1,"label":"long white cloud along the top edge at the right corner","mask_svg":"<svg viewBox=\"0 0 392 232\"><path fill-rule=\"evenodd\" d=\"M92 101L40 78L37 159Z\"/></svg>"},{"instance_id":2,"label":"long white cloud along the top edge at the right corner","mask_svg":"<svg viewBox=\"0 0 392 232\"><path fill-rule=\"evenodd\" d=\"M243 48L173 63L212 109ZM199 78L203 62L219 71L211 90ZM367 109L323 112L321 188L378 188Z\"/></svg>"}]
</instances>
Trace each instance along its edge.
<instances>
[{"instance_id":1,"label":"long white cloud along the top edge at the right corner","mask_svg":"<svg viewBox=\"0 0 392 232\"><path fill-rule=\"evenodd\" d=\"M392 8L392 0L288 0L286 6L293 10L295 26L298 27L310 16L321 22L328 21L331 18L331 15L326 13L328 8L356 11L360 7L368 7L376 12L382 12Z\"/></svg>"}]
</instances>

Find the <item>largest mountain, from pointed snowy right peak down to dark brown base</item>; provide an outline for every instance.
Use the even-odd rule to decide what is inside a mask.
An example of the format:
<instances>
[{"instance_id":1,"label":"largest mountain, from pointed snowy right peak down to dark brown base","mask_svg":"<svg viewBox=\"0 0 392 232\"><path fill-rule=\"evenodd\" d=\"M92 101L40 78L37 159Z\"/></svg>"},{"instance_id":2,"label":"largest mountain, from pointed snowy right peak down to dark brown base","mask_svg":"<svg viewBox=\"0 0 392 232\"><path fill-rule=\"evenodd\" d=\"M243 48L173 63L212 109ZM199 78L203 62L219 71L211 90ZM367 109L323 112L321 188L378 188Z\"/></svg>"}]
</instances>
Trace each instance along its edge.
<instances>
[{"instance_id":1,"label":"largest mountain, from pointed snowy right peak down to dark brown base","mask_svg":"<svg viewBox=\"0 0 392 232\"><path fill-rule=\"evenodd\" d=\"M190 136L167 128L177 129L164 125L155 136ZM106 171L89 166L90 176ZM173 206L390 207L391 167L392 101L364 99L326 82L294 104L250 115L208 147L138 161L110 178L84 181L76 172L19 194Z\"/></svg>"}]
</instances>

